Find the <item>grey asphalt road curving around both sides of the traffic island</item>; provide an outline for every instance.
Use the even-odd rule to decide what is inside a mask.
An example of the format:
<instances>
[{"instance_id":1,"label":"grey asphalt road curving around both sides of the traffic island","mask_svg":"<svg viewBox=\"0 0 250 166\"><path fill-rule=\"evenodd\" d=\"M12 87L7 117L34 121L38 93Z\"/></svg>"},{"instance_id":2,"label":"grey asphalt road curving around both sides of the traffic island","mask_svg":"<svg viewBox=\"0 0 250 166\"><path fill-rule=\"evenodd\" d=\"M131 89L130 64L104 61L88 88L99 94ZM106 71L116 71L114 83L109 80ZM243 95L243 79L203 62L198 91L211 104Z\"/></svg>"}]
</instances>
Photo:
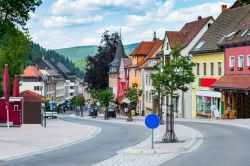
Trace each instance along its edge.
<instances>
[{"instance_id":1,"label":"grey asphalt road curving around both sides of the traffic island","mask_svg":"<svg viewBox=\"0 0 250 166\"><path fill-rule=\"evenodd\" d=\"M97 126L102 128L102 132L96 137L76 145L23 159L3 161L0 165L93 165L115 156L117 151L137 144L150 135L145 128L136 125L131 127L132 125L78 120L71 117L61 119L72 123ZM248 138L250 133L248 129L221 124L177 123L200 131L204 136L203 144L197 150L180 154L163 163L162 166L237 166L249 163L250 143Z\"/></svg>"}]
</instances>

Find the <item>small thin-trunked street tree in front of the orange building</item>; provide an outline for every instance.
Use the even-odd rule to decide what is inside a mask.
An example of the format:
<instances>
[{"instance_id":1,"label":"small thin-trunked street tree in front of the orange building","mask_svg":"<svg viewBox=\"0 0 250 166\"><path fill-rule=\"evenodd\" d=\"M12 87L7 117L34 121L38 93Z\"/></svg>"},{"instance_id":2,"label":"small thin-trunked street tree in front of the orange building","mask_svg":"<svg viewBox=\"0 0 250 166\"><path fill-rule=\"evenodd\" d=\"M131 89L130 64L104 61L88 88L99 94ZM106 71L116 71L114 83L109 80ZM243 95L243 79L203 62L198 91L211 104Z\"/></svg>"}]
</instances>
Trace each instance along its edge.
<instances>
[{"instance_id":1,"label":"small thin-trunked street tree in front of the orange building","mask_svg":"<svg viewBox=\"0 0 250 166\"><path fill-rule=\"evenodd\" d=\"M142 90L138 89L136 85L133 85L132 87L129 87L125 90L125 96L130 101L130 108L128 111L127 121L133 121L133 118L131 116L131 109L132 109L132 106L137 105L138 99L141 95L142 95Z\"/></svg>"}]
</instances>

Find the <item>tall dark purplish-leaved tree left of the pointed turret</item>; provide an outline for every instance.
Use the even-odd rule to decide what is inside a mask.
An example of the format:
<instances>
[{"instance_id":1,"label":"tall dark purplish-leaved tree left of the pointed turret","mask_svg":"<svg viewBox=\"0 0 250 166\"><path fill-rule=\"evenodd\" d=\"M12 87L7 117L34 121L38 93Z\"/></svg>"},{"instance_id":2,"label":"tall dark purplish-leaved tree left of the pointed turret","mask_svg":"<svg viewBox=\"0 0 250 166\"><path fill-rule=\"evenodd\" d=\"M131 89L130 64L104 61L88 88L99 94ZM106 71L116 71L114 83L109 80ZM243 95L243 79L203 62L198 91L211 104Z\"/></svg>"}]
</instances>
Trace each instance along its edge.
<instances>
[{"instance_id":1,"label":"tall dark purplish-leaved tree left of the pointed turret","mask_svg":"<svg viewBox=\"0 0 250 166\"><path fill-rule=\"evenodd\" d=\"M102 35L101 45L95 56L86 60L85 82L90 88L107 89L109 65L115 57L120 35L117 32L105 31Z\"/></svg>"}]
</instances>

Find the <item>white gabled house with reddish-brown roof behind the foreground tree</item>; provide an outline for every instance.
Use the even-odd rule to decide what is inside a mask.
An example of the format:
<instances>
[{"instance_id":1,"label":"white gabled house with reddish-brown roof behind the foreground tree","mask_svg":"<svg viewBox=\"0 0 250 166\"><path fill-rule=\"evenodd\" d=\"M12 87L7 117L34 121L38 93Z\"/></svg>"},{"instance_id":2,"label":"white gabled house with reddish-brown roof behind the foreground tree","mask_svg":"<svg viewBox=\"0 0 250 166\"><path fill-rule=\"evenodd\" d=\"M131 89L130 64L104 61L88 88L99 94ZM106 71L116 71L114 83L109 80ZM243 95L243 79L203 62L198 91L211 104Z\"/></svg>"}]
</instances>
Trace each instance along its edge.
<instances>
[{"instance_id":1,"label":"white gabled house with reddish-brown roof behind the foreground tree","mask_svg":"<svg viewBox=\"0 0 250 166\"><path fill-rule=\"evenodd\" d=\"M181 48L181 54L183 56L189 55L189 52L194 45L199 41L202 35L208 30L211 24L214 22L213 17L202 18L198 17L198 20L186 23L180 31L166 31L162 61L169 59L171 49L178 46ZM192 118L192 86L189 85L189 90L186 93L181 91L176 92L178 94L177 100L177 116ZM166 99L165 101L166 102ZM166 107L163 108L166 110Z\"/></svg>"}]
</instances>

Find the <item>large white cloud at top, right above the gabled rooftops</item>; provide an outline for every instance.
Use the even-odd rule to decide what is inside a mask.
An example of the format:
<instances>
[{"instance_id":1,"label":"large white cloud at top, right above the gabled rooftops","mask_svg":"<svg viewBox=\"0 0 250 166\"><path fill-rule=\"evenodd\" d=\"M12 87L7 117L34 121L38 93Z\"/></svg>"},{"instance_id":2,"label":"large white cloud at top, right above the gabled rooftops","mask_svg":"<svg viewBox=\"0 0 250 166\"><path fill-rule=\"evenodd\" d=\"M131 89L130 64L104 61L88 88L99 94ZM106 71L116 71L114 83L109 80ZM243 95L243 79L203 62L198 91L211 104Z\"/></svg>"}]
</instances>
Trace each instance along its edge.
<instances>
[{"instance_id":1,"label":"large white cloud at top, right above the gabled rooftops","mask_svg":"<svg viewBox=\"0 0 250 166\"><path fill-rule=\"evenodd\" d=\"M216 18L221 12L222 4L230 6L226 2L220 1L174 10L175 3L175 0L167 0L144 15L126 15L126 23L130 26L140 26L153 23L188 22L197 19L198 16Z\"/></svg>"}]
</instances>

